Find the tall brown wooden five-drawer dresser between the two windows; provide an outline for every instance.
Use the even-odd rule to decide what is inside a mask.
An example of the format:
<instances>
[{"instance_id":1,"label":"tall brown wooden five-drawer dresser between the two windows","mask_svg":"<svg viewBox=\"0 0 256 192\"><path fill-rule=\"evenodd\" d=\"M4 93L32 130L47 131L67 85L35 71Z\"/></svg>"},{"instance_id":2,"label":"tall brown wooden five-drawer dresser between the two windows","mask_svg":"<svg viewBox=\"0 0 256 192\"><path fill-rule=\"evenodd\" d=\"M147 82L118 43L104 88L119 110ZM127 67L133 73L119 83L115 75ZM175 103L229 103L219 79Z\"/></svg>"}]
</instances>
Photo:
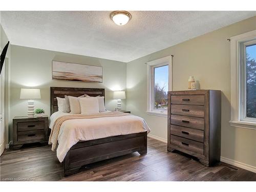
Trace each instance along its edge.
<instances>
[{"instance_id":1,"label":"tall brown wooden five-drawer dresser between the two windows","mask_svg":"<svg viewBox=\"0 0 256 192\"><path fill-rule=\"evenodd\" d=\"M167 150L195 156L207 166L220 161L221 91L169 91Z\"/></svg>"}]
</instances>

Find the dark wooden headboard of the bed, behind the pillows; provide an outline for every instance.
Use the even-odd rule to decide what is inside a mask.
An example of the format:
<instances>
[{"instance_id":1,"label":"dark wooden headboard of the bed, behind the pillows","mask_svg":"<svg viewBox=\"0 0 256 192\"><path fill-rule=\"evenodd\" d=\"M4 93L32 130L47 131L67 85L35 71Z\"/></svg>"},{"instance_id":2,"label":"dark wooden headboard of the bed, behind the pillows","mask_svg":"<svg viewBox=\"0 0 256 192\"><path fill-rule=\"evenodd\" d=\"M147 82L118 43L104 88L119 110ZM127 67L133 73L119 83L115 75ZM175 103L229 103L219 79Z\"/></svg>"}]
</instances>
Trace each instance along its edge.
<instances>
[{"instance_id":1,"label":"dark wooden headboard of the bed, behind the pillows","mask_svg":"<svg viewBox=\"0 0 256 192\"><path fill-rule=\"evenodd\" d=\"M58 111L58 103L56 97L65 98L65 95L79 97L83 94L87 94L91 97L96 97L98 95L105 96L105 89L51 87L51 115Z\"/></svg>"}]
</instances>

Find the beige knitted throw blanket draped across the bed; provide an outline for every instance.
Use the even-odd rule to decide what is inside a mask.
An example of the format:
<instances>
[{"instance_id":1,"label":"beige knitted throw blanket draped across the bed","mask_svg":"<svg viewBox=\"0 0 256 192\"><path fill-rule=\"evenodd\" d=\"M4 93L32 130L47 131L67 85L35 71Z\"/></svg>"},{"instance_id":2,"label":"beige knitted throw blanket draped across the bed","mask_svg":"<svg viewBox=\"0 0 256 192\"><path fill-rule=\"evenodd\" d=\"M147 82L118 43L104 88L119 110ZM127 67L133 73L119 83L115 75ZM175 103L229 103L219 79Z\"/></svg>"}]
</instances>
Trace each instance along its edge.
<instances>
[{"instance_id":1,"label":"beige knitted throw blanket draped across the bed","mask_svg":"<svg viewBox=\"0 0 256 192\"><path fill-rule=\"evenodd\" d=\"M84 114L72 114L72 115L65 115L59 117L54 125L53 129L51 131L51 135L49 138L49 144L52 144L52 151L56 151L57 144L58 144L58 135L59 135L59 129L61 124L64 121L70 120L70 119L94 119L99 117L118 117L118 116L127 116L131 115L129 113L122 113L122 112L107 112L107 113L97 113L97 114L90 114L90 115L84 115Z\"/></svg>"}]
</instances>

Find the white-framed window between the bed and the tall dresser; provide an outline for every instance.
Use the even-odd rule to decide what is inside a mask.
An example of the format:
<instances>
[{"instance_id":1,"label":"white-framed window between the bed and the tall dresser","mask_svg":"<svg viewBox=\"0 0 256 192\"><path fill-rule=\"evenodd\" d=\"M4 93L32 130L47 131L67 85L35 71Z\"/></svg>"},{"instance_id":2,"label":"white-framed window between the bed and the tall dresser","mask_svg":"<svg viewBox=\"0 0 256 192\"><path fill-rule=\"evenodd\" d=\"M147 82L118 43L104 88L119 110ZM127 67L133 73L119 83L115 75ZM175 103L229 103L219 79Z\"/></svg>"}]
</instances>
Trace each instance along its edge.
<instances>
[{"instance_id":1,"label":"white-framed window between the bed and the tall dresser","mask_svg":"<svg viewBox=\"0 0 256 192\"><path fill-rule=\"evenodd\" d=\"M147 62L147 114L167 117L167 92L170 90L172 57Z\"/></svg>"}]
</instances>

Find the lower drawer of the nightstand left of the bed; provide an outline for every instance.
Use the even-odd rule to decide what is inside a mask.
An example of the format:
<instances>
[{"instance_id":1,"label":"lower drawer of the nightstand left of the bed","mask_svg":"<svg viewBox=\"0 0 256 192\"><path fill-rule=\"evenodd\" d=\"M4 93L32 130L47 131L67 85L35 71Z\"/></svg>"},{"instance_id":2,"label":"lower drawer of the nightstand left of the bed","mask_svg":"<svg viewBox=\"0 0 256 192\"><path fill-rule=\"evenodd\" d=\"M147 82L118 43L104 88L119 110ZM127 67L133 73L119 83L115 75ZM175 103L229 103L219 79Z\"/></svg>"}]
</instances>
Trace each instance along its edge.
<instances>
[{"instance_id":1,"label":"lower drawer of the nightstand left of the bed","mask_svg":"<svg viewBox=\"0 0 256 192\"><path fill-rule=\"evenodd\" d=\"M18 132L18 141L30 141L45 138L45 130Z\"/></svg>"}]
</instances>

